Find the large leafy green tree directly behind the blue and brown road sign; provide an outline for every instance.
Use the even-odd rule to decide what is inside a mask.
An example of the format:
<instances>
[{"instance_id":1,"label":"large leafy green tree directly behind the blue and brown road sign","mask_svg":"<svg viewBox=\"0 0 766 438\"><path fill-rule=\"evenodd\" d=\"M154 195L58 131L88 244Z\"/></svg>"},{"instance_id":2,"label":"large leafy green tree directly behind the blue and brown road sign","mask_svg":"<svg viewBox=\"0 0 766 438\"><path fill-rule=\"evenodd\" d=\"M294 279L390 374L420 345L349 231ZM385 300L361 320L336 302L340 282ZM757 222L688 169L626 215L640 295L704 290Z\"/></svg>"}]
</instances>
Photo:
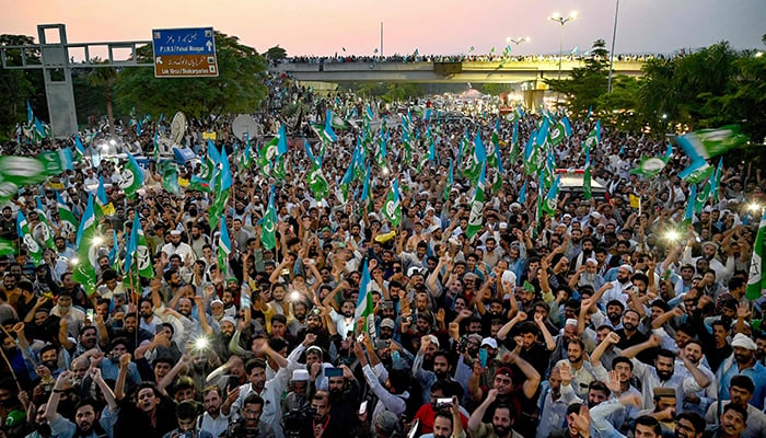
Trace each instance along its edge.
<instances>
[{"instance_id":1,"label":"large leafy green tree directly behind the blue and brown road sign","mask_svg":"<svg viewBox=\"0 0 766 438\"><path fill-rule=\"evenodd\" d=\"M152 62L151 46L138 50L138 58ZM118 107L136 107L139 113L202 117L209 114L252 113L267 95L264 85L266 64L253 47L236 36L216 32L217 78L154 78L146 67L125 68L117 77Z\"/></svg>"}]
</instances>

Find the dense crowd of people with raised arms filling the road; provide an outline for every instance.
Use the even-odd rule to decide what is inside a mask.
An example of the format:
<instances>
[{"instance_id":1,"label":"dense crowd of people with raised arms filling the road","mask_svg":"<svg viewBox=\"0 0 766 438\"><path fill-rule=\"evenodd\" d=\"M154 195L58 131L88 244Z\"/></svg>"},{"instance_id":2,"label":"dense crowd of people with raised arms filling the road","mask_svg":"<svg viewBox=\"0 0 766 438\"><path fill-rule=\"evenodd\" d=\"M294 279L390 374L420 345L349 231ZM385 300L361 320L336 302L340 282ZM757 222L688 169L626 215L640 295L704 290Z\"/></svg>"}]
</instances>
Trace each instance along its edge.
<instances>
[{"instance_id":1,"label":"dense crowd of people with raised arms filling the road","mask_svg":"<svg viewBox=\"0 0 766 438\"><path fill-rule=\"evenodd\" d=\"M304 104L306 118L320 124L326 108L361 115L369 106L375 119L385 113L381 102L280 89L280 99ZM257 117L266 132L279 123L300 129L295 118ZM338 188L359 130L309 146L329 182L318 199L302 140L286 152L286 176L266 175L241 165L244 142L235 150L225 124L192 120L184 146L205 161L201 132L218 128L216 148L231 158L233 186L221 220L231 251L223 264L220 226L209 226L214 192L169 192L154 164L135 198L119 186L125 163L107 158L97 166L82 159L23 187L2 206L0 237L18 241L22 212L44 246L45 215L55 249L37 265L23 244L0 257L1 433L766 436L763 301L744 296L759 220L746 206L764 204L761 169L724 158L716 200L682 224L690 184L678 172L688 158L674 148L660 174L640 177L629 171L642 155L662 155L664 139L604 128L590 159L605 196L562 189L546 214L537 211L542 182L511 153L514 123L501 117L502 180L487 184L481 228L468 232L476 185L457 171L460 143L468 129L489 143L498 117L413 116L420 139L427 129L433 139L436 157L422 165L429 146L406 159L403 127L392 124L385 162L369 157L371 205L362 201L361 178L347 196ZM541 117L519 117L521 145ZM582 143L594 124L572 122L555 148L557 168L583 168ZM137 141L152 157L154 132L165 128L147 123L137 136L126 125L120 140ZM70 146L22 139L3 150ZM252 147L257 154L262 145ZM181 178L195 174L193 165L178 169ZM77 233L61 227L58 207L81 218L100 177L114 212L98 219L106 238L93 243L97 289L88 293L72 276L88 262L77 260ZM393 178L402 188L397 226L382 211ZM275 247L264 243L260 221L269 198ZM120 269L136 214L153 278ZM357 318L368 295L362 284L371 319Z\"/></svg>"}]
</instances>

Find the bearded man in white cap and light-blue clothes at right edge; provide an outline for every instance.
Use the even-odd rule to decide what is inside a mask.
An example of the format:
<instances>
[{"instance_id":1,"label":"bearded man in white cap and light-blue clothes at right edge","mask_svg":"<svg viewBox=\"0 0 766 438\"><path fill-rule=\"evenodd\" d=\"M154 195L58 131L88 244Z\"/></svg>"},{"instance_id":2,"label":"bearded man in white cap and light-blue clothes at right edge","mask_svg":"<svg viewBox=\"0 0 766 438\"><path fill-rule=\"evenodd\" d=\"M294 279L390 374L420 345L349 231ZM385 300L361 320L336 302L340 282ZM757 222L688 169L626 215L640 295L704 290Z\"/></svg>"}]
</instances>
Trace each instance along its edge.
<instances>
[{"instance_id":1,"label":"bearded man in white cap and light-blue clothes at right edge","mask_svg":"<svg viewBox=\"0 0 766 438\"><path fill-rule=\"evenodd\" d=\"M755 385L753 406L763 410L764 397L766 397L766 367L755 360L755 350L758 346L743 333L734 335L731 346L734 353L721 364L716 373L721 400L729 399L729 385L734 376L747 376Z\"/></svg>"}]
</instances>

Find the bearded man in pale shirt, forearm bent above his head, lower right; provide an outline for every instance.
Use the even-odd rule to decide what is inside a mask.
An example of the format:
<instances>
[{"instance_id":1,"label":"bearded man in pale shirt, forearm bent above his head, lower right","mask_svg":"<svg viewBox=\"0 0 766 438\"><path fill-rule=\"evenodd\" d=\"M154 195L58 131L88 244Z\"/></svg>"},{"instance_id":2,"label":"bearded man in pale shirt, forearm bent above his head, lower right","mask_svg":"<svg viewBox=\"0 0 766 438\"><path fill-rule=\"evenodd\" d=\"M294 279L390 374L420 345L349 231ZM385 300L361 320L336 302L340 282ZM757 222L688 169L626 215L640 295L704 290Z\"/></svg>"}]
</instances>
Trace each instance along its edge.
<instances>
[{"instance_id":1,"label":"bearded man in pale shirt, forearm bent above his head, lower right","mask_svg":"<svg viewBox=\"0 0 766 438\"><path fill-rule=\"evenodd\" d=\"M684 372L680 370L681 372L675 372L676 355L666 349L660 349L658 351L653 366L646 365L636 359L636 355L646 350L647 348L659 347L660 343L660 338L652 335L649 341L624 349L623 356L632 361L634 374L641 382L641 387L643 388L645 410L649 410L654 406L654 393L652 391L654 388L672 388L676 392L676 412L681 412L681 402L686 397L686 395L707 388L710 384L710 380L684 355L681 356L681 360L683 361L686 371Z\"/></svg>"}]
</instances>

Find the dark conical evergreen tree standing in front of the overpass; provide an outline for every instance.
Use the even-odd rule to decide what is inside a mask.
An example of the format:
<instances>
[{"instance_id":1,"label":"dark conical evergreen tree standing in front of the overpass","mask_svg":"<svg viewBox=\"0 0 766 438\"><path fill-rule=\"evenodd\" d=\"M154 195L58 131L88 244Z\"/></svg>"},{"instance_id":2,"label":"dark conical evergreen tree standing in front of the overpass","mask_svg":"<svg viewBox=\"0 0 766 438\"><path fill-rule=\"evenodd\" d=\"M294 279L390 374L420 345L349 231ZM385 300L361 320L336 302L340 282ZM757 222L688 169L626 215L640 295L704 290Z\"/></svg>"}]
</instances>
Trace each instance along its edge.
<instances>
[{"instance_id":1,"label":"dark conical evergreen tree standing in front of the overpass","mask_svg":"<svg viewBox=\"0 0 766 438\"><path fill-rule=\"evenodd\" d=\"M545 83L552 91L566 96L572 113L585 114L590 107L597 105L599 96L606 92L608 59L606 43L596 39L583 67L572 69L569 79L546 79Z\"/></svg>"}]
</instances>

